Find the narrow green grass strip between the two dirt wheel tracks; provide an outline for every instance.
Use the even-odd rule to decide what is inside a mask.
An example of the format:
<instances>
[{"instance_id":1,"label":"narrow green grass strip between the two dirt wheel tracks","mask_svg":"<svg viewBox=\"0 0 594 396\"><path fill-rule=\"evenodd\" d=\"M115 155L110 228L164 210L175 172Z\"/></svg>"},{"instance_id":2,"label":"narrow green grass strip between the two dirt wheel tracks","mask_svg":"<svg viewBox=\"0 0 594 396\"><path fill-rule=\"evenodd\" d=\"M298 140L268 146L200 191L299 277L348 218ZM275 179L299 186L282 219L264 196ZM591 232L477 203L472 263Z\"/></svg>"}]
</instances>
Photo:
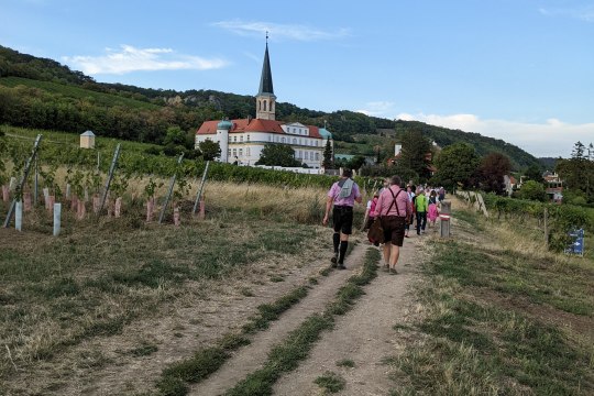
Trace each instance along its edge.
<instances>
[{"instance_id":1,"label":"narrow green grass strip between the two dirt wheel tracks","mask_svg":"<svg viewBox=\"0 0 594 396\"><path fill-rule=\"evenodd\" d=\"M333 327L334 315L349 310L354 300L364 294L362 286L377 276L378 260L380 252L377 250L367 250L362 274L353 275L348 279L346 285L337 293L334 300L327 306L323 315L316 314L308 317L271 351L262 369L249 374L229 389L227 395L272 395L273 386L280 375L297 369L299 362L309 355L309 351L320 338L321 332Z\"/></svg>"}]
</instances>

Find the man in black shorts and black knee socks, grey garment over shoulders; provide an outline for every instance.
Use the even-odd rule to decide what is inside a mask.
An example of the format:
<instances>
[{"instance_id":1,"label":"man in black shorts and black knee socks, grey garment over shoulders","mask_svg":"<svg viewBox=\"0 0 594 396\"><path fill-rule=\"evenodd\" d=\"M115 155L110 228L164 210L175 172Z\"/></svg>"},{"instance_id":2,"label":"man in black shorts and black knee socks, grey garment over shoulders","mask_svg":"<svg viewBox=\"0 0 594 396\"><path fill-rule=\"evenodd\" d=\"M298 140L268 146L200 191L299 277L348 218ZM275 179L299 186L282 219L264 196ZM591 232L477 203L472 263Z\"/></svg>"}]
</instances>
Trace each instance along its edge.
<instances>
[{"instance_id":1,"label":"man in black shorts and black knee socks, grey garment over shoulders","mask_svg":"<svg viewBox=\"0 0 594 396\"><path fill-rule=\"evenodd\" d=\"M344 169L339 182L334 183L327 195L326 215L323 216L322 224L328 224L328 216L332 208L332 220L334 226L334 234L332 242L334 245L334 255L330 260L332 267L345 270L344 255L349 246L349 235L353 232L353 206L356 201L361 204L362 197L359 186L351 178L353 172Z\"/></svg>"}]
</instances>

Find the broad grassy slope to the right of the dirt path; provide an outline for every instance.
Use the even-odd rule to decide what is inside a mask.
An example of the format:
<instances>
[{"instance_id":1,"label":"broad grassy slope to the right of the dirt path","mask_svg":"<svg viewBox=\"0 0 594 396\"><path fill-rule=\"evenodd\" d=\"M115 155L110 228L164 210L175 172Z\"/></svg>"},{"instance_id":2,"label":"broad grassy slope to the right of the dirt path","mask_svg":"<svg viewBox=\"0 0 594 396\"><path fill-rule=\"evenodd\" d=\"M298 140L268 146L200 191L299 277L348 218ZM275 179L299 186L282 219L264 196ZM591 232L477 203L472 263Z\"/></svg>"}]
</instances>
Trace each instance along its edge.
<instances>
[{"instance_id":1,"label":"broad grassy slope to the right of the dirt path","mask_svg":"<svg viewBox=\"0 0 594 396\"><path fill-rule=\"evenodd\" d=\"M561 315L594 324L592 268L462 240L431 249L414 329L429 338L389 362L392 394L594 394L591 337L552 324Z\"/></svg>"}]
</instances>

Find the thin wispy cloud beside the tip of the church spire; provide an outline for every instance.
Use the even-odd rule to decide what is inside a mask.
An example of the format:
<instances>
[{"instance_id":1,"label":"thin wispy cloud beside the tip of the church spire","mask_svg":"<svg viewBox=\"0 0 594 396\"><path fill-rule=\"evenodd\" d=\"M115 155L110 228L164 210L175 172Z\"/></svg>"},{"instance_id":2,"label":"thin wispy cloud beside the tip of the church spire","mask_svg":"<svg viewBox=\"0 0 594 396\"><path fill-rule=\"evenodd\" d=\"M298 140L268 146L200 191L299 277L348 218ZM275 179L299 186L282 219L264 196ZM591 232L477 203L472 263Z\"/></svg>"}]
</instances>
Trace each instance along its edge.
<instances>
[{"instance_id":1,"label":"thin wispy cloud beside the tip of the church spire","mask_svg":"<svg viewBox=\"0 0 594 396\"><path fill-rule=\"evenodd\" d=\"M246 22L241 20L220 21L212 23L239 35L264 37L265 32L270 33L271 40L296 40L296 41L320 41L337 40L348 36L349 30L339 29L337 31L323 31L302 24L282 24L273 22Z\"/></svg>"}]
</instances>

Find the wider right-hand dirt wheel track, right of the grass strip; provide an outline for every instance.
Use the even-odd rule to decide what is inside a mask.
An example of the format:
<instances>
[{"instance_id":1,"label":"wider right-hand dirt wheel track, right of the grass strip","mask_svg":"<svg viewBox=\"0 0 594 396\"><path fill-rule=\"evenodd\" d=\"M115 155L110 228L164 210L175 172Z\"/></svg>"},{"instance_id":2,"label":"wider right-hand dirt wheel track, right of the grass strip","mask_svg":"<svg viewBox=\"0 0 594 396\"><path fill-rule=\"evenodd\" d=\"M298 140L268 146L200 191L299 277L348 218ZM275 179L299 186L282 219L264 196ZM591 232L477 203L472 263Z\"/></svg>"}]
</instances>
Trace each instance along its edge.
<instances>
[{"instance_id":1,"label":"wider right-hand dirt wheel track, right of the grass strip","mask_svg":"<svg viewBox=\"0 0 594 396\"><path fill-rule=\"evenodd\" d=\"M274 388L275 395L319 395L314 381L331 371L342 376L346 385L340 395L387 395L392 387L388 369L382 363L404 350L406 341L398 339L394 326L403 323L414 308L409 287L417 276L420 260L416 254L422 240L407 239L400 251L398 275L380 270L378 276L365 286L365 295L353 310L337 319L336 329L322 336L310 358L293 373L284 376ZM339 361L352 361L354 367L338 366Z\"/></svg>"}]
</instances>

